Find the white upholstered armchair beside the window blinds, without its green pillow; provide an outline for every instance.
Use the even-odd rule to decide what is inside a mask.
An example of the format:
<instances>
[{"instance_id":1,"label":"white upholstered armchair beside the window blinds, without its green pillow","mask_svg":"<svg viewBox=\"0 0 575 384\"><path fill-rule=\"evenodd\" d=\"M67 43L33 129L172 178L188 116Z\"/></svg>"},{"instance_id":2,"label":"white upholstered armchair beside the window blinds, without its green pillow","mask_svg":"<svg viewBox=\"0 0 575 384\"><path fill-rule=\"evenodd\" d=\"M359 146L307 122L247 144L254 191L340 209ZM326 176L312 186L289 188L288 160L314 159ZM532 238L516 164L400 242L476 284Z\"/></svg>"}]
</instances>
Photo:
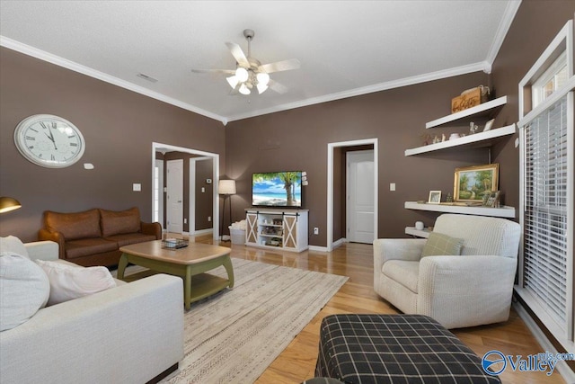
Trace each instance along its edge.
<instances>
[{"instance_id":1,"label":"white upholstered armchair beside the window blinds, without its green pillow","mask_svg":"<svg viewBox=\"0 0 575 384\"><path fill-rule=\"evenodd\" d=\"M507 321L520 226L507 219L444 214L434 232L464 240L461 255L421 257L427 239L376 239L374 290L404 313L447 328Z\"/></svg>"}]
</instances>

